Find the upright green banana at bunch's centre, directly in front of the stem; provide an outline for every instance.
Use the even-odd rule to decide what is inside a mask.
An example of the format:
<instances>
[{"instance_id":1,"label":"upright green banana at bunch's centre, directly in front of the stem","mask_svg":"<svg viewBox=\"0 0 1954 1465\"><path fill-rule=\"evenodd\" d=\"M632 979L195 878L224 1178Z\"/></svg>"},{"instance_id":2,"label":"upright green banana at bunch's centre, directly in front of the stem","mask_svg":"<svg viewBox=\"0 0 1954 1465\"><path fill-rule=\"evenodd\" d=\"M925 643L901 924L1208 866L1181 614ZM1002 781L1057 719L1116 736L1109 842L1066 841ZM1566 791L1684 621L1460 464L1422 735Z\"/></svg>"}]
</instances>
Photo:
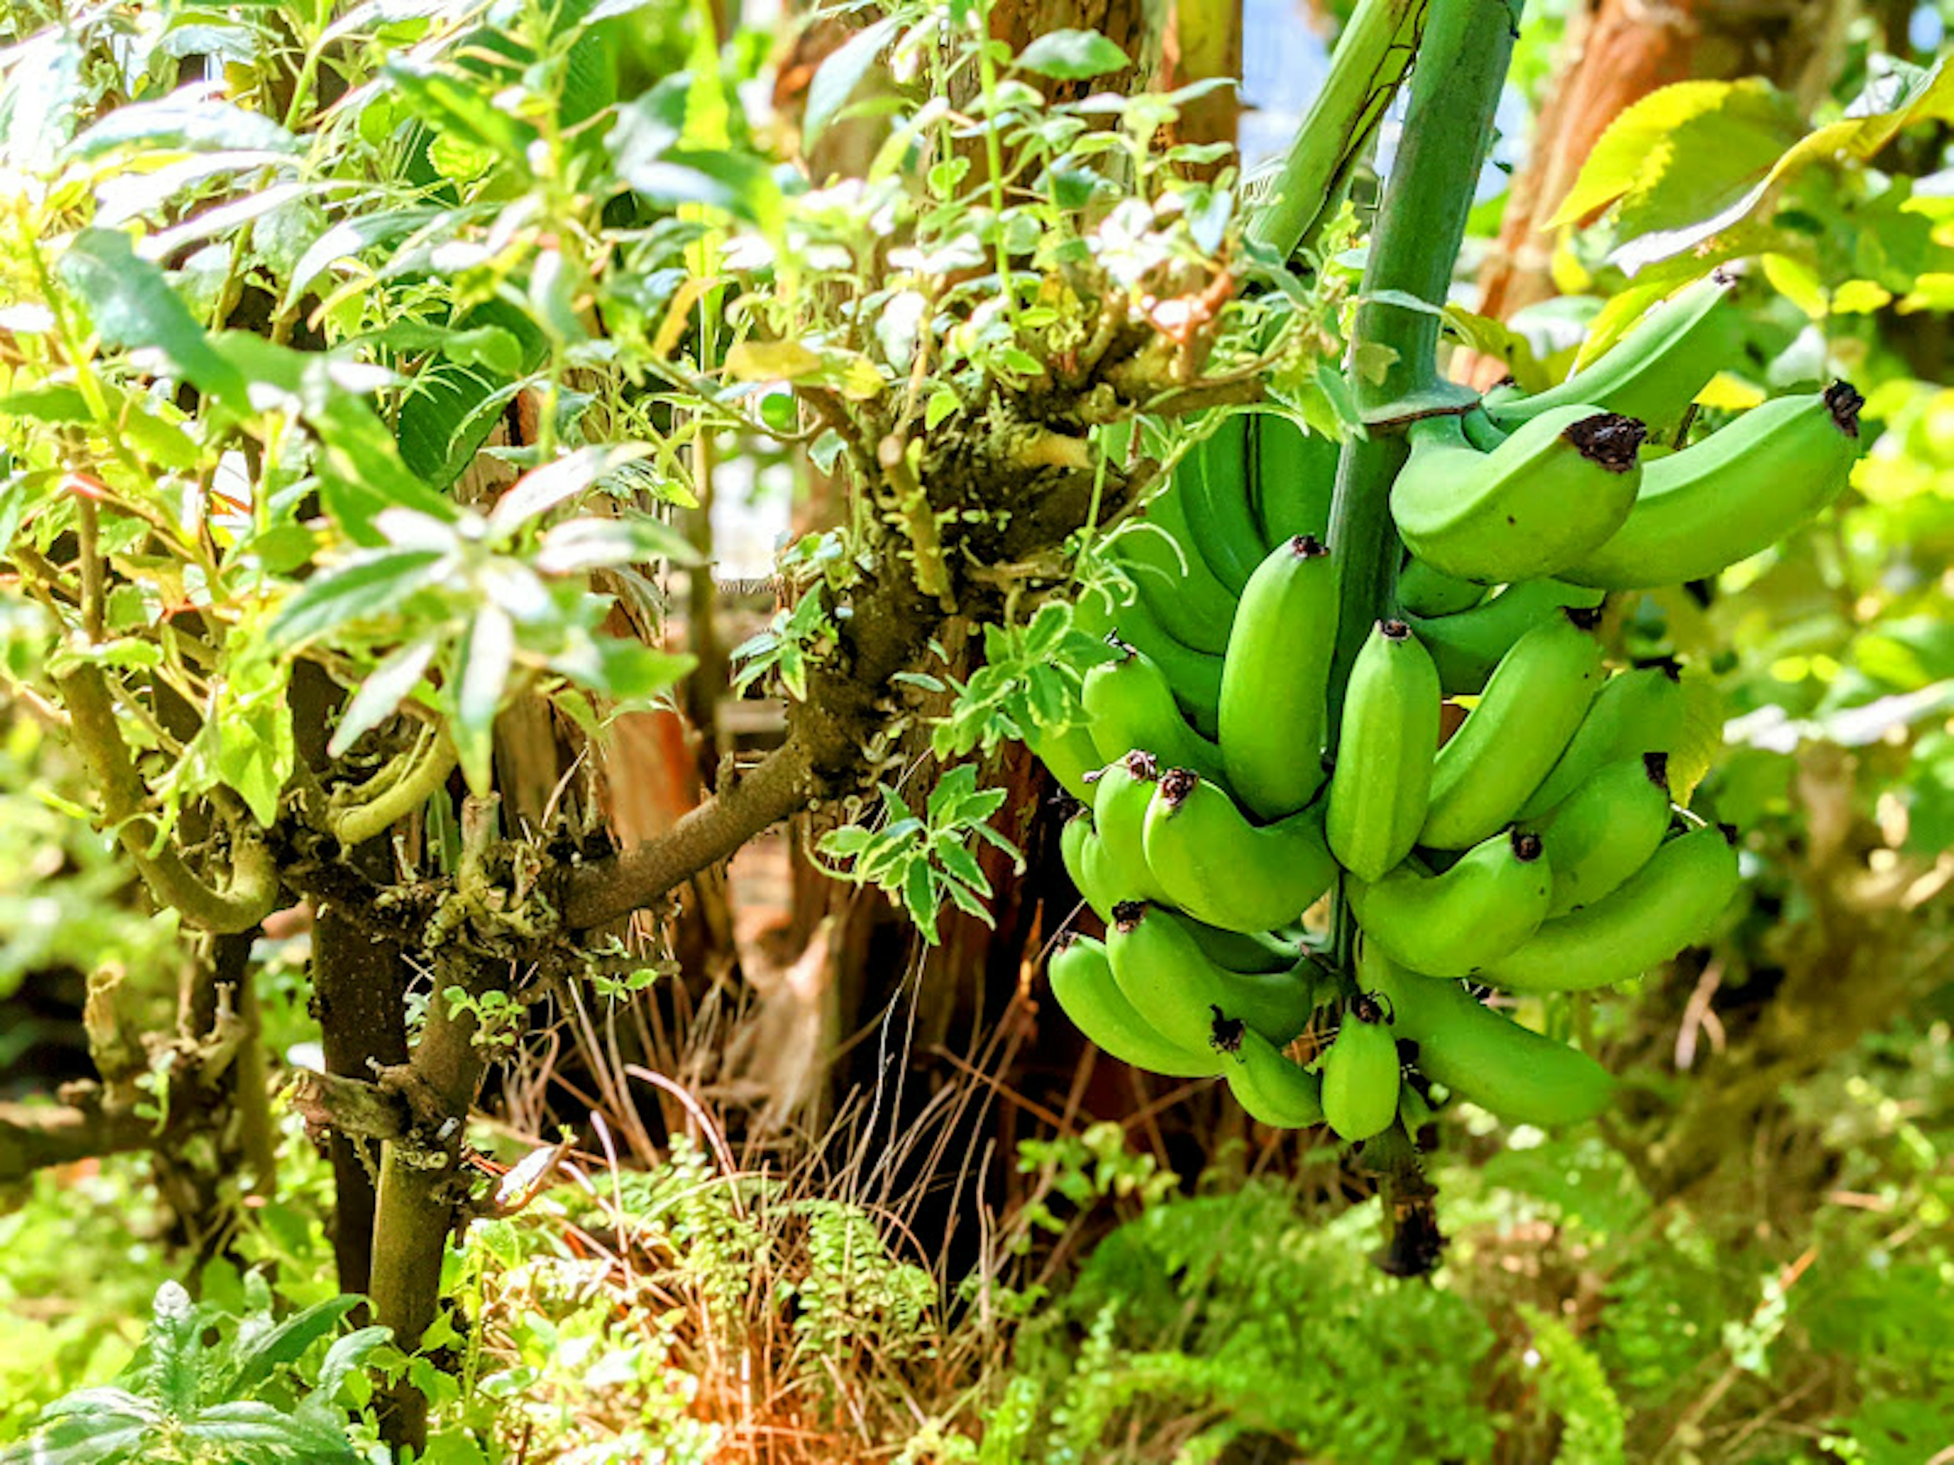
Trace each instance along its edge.
<instances>
[{"instance_id":1,"label":"upright green banana at bunch's centre, directly in front of the stem","mask_svg":"<svg viewBox=\"0 0 1954 1465\"><path fill-rule=\"evenodd\" d=\"M1350 664L1323 834L1337 863L1376 881L1424 826L1438 752L1438 670L1411 627L1378 621Z\"/></svg>"}]
</instances>

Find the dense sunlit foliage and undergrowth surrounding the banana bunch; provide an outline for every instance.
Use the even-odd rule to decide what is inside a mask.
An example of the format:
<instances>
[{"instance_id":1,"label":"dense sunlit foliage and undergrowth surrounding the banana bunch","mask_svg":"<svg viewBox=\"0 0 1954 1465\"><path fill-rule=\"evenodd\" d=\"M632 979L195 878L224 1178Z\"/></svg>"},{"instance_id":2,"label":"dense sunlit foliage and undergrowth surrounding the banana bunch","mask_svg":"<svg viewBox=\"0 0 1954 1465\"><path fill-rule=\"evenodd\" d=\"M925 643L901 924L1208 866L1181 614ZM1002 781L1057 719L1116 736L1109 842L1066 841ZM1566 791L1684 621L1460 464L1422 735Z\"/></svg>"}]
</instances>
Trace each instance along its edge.
<instances>
[{"instance_id":1,"label":"dense sunlit foliage and undergrowth surrounding the banana bunch","mask_svg":"<svg viewBox=\"0 0 1954 1465\"><path fill-rule=\"evenodd\" d=\"M0 1147L0 1438L119 1379L63 1459L158 1412L184 1428L152 1459L387 1459L377 1401L406 1379L438 1461L1948 1459L1954 78L1933 10L1809 6L1809 51L1764 16L1639 100L1583 100L1618 21L1528 18L1454 375L1536 385L1747 262L1753 369L1708 410L1829 363L1876 441L1809 531L1624 609L1624 645L1716 670L1700 799L1747 830L1747 893L1675 969L1528 1014L1628 1098L1567 1135L1448 1111L1423 1283L1372 1264L1360 1162L1094 1061L1041 1000L1075 897L1016 740L1094 654L1061 607L1096 570L1016 566L997 527L1022 584L932 580L905 498L928 451L979 535L1010 494L1137 490L1055 422L1147 406L1170 457L1176 406L1264 383L1348 414L1360 219L1325 219L1307 270L1241 246L1233 119L1202 111L1225 55L965 4L805 29L657 0L14 6L0 1059L8 1098L100 1070L141 1108L125 1152ZM979 61L983 31L1016 64ZM1004 268L1047 295L1006 305ZM1102 418L1067 356L1096 291L1174 307L1106 348ZM770 584L723 570L743 514L789 529ZM88 537L113 584L57 572ZM170 836L240 881L254 844L309 867L291 828L395 828L377 885L467 889L469 830L397 824L465 785L602 867L756 748L815 746L832 607L891 559L963 619L889 688L901 717L836 734L879 791L741 830L729 877L651 889L629 930L641 902L596 881L574 940L518 920L571 902L461 928L500 984L442 965L447 928L412 953L418 1031L465 1022L488 1068L471 1164L514 1170L446 1240L418 1356L356 1326L334 1158L285 1092L188 1123L219 1027L184 994L248 963L244 1047L317 1068L307 961L358 900L309 889L317 924L252 940L254 910L229 949L147 914L137 854ZM125 729L158 797L135 854L63 731L90 674L164 709ZM309 748L283 713L320 697ZM238 1092L266 1076L240 1067Z\"/></svg>"}]
</instances>

